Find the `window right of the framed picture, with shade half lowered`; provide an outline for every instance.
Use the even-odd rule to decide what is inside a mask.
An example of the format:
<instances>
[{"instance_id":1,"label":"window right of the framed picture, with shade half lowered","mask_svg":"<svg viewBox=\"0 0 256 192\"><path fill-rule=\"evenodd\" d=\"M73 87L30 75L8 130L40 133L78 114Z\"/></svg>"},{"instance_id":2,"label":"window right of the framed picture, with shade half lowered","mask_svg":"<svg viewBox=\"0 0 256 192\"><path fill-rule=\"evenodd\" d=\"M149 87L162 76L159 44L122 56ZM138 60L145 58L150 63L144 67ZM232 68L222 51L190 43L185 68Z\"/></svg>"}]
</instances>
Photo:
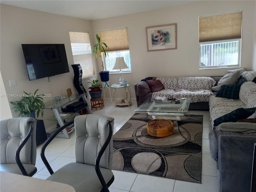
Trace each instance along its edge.
<instances>
[{"instance_id":1,"label":"window right of the framed picture, with shade half lowered","mask_svg":"<svg viewBox=\"0 0 256 192\"><path fill-rule=\"evenodd\" d=\"M199 17L200 69L240 67L242 12Z\"/></svg>"}]
</instances>

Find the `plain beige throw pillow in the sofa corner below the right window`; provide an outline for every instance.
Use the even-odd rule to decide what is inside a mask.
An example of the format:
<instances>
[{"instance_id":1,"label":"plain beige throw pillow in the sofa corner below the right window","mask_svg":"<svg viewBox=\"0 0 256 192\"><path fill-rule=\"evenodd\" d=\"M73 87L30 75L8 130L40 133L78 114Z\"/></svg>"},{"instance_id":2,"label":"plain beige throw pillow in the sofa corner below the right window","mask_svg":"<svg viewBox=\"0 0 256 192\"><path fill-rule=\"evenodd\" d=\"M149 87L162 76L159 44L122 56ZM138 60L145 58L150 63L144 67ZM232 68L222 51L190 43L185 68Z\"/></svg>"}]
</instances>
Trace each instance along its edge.
<instances>
[{"instance_id":1,"label":"plain beige throw pillow in the sofa corner below the right window","mask_svg":"<svg viewBox=\"0 0 256 192\"><path fill-rule=\"evenodd\" d=\"M218 82L217 86L212 87L213 91L219 91L222 85L230 85L237 82L240 76L240 71L236 71L234 73L225 74Z\"/></svg>"}]
</instances>

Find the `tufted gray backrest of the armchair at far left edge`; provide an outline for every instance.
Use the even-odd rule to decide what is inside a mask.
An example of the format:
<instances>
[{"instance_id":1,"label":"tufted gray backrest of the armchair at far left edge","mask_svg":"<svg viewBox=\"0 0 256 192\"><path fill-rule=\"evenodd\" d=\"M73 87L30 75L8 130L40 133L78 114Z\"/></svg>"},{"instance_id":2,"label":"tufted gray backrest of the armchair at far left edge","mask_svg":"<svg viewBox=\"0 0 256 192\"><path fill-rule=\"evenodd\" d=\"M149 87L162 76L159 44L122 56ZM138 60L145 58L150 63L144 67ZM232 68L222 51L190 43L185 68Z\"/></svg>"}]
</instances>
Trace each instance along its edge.
<instances>
[{"instance_id":1,"label":"tufted gray backrest of the armchair at far left edge","mask_svg":"<svg viewBox=\"0 0 256 192\"><path fill-rule=\"evenodd\" d=\"M0 164L16 164L15 154L33 124L33 132L20 151L21 163L36 165L36 120L10 118L0 120Z\"/></svg>"}]
</instances>

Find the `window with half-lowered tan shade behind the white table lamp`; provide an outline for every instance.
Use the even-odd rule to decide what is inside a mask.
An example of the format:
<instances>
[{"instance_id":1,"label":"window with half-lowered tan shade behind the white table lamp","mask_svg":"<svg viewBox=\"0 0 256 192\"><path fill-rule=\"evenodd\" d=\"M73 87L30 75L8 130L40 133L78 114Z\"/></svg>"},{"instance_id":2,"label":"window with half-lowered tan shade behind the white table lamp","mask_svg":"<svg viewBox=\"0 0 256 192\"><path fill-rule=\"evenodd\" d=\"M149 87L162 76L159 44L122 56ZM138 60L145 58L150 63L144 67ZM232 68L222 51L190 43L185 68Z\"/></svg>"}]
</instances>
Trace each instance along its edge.
<instances>
[{"instance_id":1,"label":"window with half-lowered tan shade behind the white table lamp","mask_svg":"<svg viewBox=\"0 0 256 192\"><path fill-rule=\"evenodd\" d=\"M116 57L124 57L128 69L122 69L123 72L131 72L131 61L130 51L128 43L127 27L118 29L108 29L99 31L100 41L106 43L109 47L108 57L102 54L102 59L106 65L106 70L110 73L120 72L120 70L114 69L113 67L116 62Z\"/></svg>"}]
</instances>

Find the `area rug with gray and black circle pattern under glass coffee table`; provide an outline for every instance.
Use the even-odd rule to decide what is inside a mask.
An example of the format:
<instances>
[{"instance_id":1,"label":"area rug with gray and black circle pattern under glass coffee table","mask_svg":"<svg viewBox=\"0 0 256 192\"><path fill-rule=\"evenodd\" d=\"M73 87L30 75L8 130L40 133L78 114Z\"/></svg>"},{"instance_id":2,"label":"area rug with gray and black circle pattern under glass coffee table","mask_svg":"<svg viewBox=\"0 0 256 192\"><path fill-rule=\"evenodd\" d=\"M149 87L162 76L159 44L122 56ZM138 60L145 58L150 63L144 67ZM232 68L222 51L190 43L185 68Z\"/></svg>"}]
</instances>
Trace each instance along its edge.
<instances>
[{"instance_id":1,"label":"area rug with gray and black circle pattern under glass coffee table","mask_svg":"<svg viewBox=\"0 0 256 192\"><path fill-rule=\"evenodd\" d=\"M153 137L146 113L135 113L113 136L112 169L201 183L203 116L181 116L174 133Z\"/></svg>"}]
</instances>

